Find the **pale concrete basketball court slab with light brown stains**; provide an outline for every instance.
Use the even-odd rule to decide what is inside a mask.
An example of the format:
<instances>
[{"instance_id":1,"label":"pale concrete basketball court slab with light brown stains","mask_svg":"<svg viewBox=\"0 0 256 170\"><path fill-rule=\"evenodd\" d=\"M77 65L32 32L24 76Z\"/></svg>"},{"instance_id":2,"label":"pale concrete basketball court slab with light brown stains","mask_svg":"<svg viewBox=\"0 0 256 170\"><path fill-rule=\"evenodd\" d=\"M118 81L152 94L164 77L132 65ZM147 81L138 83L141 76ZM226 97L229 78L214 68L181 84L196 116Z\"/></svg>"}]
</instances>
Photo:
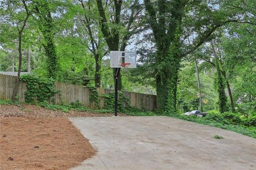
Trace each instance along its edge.
<instances>
[{"instance_id":1,"label":"pale concrete basketball court slab with light brown stains","mask_svg":"<svg viewBox=\"0 0 256 170\"><path fill-rule=\"evenodd\" d=\"M170 117L70 120L98 150L72 170L256 169L256 139L224 129Z\"/></svg>"}]
</instances>

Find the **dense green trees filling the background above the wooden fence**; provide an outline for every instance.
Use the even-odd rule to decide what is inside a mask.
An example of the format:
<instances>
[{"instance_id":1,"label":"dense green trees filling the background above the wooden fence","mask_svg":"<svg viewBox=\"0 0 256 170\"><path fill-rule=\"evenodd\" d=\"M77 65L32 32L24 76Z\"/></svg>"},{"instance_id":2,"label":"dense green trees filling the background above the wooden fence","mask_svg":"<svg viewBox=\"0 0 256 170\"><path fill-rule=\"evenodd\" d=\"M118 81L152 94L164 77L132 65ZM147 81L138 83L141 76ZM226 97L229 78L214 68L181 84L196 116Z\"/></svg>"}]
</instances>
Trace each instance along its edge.
<instances>
[{"instance_id":1,"label":"dense green trees filling the background above the wooden fence","mask_svg":"<svg viewBox=\"0 0 256 170\"><path fill-rule=\"evenodd\" d=\"M156 94L158 113L255 113L254 0L0 5L0 71L31 70L59 82L113 88L110 51L137 51L138 66L121 71L119 90Z\"/></svg>"}]
</instances>

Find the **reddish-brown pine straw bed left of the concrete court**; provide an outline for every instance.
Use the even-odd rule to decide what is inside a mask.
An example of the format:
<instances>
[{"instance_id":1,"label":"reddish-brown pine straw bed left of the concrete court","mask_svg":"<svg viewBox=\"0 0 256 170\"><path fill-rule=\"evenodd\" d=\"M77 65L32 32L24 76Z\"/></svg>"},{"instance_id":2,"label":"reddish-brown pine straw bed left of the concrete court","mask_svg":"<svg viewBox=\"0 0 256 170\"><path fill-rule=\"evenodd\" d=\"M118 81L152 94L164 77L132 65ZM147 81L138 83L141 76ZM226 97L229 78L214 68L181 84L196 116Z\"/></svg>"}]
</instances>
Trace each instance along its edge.
<instances>
[{"instance_id":1,"label":"reddish-brown pine straw bed left of the concrete court","mask_svg":"<svg viewBox=\"0 0 256 170\"><path fill-rule=\"evenodd\" d=\"M2 116L5 111L24 114L19 108L0 107ZM41 111L32 115L58 115ZM0 169L69 169L96 152L67 118L0 117L0 132Z\"/></svg>"}]
</instances>

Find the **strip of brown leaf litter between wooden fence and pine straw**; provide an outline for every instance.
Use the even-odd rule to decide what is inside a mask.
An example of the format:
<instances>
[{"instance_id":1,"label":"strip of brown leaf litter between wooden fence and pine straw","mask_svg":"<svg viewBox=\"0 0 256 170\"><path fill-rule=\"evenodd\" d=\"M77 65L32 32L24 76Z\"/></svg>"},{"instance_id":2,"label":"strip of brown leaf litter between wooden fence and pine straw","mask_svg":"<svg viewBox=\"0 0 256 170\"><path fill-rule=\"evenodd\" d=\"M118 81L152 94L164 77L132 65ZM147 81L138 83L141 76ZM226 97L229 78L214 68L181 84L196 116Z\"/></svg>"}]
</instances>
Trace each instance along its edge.
<instances>
[{"instance_id":1,"label":"strip of brown leaf litter between wooden fence and pine straw","mask_svg":"<svg viewBox=\"0 0 256 170\"><path fill-rule=\"evenodd\" d=\"M92 111L69 110L50 110L31 104L0 104L0 117L102 117L113 116L113 113L96 113ZM125 116L125 114L118 114Z\"/></svg>"}]
</instances>

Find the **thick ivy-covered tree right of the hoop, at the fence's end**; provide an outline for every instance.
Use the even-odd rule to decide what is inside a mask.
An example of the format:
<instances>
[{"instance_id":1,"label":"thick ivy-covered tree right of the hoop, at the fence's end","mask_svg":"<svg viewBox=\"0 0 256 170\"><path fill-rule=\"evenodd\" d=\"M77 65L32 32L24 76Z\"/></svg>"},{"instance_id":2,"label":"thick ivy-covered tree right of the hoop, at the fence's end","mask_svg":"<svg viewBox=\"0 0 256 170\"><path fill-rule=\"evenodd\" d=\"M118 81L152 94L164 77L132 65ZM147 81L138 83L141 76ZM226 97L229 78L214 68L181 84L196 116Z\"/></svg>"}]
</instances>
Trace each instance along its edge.
<instances>
[{"instance_id":1,"label":"thick ivy-covered tree right of the hoop, at the fence's end","mask_svg":"<svg viewBox=\"0 0 256 170\"><path fill-rule=\"evenodd\" d=\"M211 38L215 30L231 21L221 7L216 9L214 1L144 2L157 49L155 79L158 111L174 113L181 58L196 50ZM186 42L192 35L196 35L195 40L188 46Z\"/></svg>"}]
</instances>

